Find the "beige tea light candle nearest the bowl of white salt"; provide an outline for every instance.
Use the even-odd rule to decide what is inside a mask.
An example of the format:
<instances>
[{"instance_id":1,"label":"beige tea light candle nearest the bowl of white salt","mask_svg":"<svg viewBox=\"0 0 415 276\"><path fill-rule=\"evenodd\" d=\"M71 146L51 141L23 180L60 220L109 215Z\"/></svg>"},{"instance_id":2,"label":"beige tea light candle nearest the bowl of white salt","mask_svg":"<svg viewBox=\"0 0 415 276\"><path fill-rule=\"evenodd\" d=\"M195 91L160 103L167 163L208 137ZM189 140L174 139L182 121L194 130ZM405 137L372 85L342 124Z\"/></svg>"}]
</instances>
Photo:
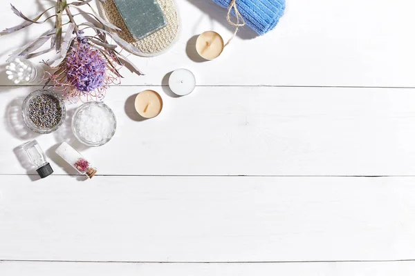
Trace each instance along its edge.
<instances>
[{"instance_id":1,"label":"beige tea light candle nearest the bowl of white salt","mask_svg":"<svg viewBox=\"0 0 415 276\"><path fill-rule=\"evenodd\" d=\"M144 90L138 93L135 107L141 117L146 119L154 118L163 109L163 99L154 90Z\"/></svg>"}]
</instances>

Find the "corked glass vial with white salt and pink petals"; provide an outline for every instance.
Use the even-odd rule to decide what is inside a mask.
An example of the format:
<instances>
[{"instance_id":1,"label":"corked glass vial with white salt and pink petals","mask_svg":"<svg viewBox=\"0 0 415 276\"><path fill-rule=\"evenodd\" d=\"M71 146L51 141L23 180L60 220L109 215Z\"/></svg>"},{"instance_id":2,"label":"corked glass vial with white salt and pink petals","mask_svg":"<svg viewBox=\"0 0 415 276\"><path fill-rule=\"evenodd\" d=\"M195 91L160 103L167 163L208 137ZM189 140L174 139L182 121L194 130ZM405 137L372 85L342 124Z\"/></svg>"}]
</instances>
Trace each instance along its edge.
<instances>
[{"instance_id":1,"label":"corked glass vial with white salt and pink petals","mask_svg":"<svg viewBox=\"0 0 415 276\"><path fill-rule=\"evenodd\" d=\"M68 143L63 142L56 150L57 155L62 157L68 164L73 166L75 170L92 178L97 169L91 166L91 163L83 157L80 152L69 146Z\"/></svg>"}]
</instances>

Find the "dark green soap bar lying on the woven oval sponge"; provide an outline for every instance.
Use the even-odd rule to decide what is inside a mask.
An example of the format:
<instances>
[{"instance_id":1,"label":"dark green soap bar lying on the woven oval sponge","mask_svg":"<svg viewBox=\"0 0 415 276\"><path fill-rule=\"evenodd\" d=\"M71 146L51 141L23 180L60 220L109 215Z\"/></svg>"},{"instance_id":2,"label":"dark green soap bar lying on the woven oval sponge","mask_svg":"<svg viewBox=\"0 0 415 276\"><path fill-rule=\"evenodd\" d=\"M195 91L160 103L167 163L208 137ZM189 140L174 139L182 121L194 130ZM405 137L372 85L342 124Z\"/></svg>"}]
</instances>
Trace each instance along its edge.
<instances>
[{"instance_id":1,"label":"dark green soap bar lying on the woven oval sponge","mask_svg":"<svg viewBox=\"0 0 415 276\"><path fill-rule=\"evenodd\" d=\"M140 40L167 25L156 0L114 0L134 39Z\"/></svg>"}]
</instances>

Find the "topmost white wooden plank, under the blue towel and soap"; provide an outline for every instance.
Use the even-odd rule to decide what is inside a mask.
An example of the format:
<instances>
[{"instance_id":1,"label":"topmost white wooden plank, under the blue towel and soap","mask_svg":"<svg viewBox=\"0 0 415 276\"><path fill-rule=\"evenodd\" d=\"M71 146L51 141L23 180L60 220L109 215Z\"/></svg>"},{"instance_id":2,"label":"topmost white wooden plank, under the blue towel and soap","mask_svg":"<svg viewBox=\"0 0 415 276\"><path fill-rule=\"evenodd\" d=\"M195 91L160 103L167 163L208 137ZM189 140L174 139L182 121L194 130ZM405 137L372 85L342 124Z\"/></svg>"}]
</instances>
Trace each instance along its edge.
<instances>
[{"instance_id":1,"label":"topmost white wooden plank, under the blue towel and soap","mask_svg":"<svg viewBox=\"0 0 415 276\"><path fill-rule=\"evenodd\" d=\"M50 6L48 1L39 3ZM185 67L195 72L201 85L415 86L412 0L393 5L387 0L287 1L286 15L273 32L251 39L252 31L241 30L223 55L210 62L194 61L198 60L194 36L216 30L230 38L233 30L225 10L207 0L177 3L183 21L181 39L160 57L131 57L147 75L136 77L123 69L122 83L159 85L168 72ZM6 8L8 0L0 4L5 7L2 28L21 22ZM28 15L40 9L35 3L15 4ZM34 38L37 30L52 27L32 26L2 37L0 59ZM6 82L1 78L0 84Z\"/></svg>"}]
</instances>

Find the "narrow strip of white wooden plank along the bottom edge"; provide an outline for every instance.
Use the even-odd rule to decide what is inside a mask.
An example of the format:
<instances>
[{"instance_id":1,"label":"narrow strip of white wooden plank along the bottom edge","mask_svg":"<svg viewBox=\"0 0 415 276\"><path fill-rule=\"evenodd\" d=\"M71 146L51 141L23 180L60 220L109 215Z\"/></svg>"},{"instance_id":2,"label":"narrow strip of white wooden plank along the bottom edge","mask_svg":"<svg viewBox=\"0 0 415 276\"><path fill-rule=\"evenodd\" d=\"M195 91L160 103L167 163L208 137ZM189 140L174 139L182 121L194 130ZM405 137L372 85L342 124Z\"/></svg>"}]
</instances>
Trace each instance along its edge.
<instances>
[{"instance_id":1,"label":"narrow strip of white wooden plank along the bottom edge","mask_svg":"<svg viewBox=\"0 0 415 276\"><path fill-rule=\"evenodd\" d=\"M288 264L117 264L0 262L8 276L412 276L414 262L288 263Z\"/></svg>"}]
</instances>

